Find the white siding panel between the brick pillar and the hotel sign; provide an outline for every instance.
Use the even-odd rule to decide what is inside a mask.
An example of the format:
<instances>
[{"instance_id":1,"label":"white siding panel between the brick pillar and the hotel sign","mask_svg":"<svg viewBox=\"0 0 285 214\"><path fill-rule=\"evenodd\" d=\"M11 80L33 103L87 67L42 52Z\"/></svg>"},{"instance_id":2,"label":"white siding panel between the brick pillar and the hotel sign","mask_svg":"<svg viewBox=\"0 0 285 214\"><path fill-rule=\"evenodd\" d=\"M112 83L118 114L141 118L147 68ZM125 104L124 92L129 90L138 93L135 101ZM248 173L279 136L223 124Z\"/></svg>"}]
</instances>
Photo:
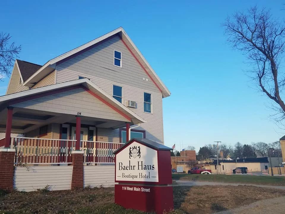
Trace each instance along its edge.
<instances>
[{"instance_id":1,"label":"white siding panel between the brick pillar and the hotel sign","mask_svg":"<svg viewBox=\"0 0 285 214\"><path fill-rule=\"evenodd\" d=\"M112 187L115 185L115 166L83 166L83 187Z\"/></svg>"}]
</instances>

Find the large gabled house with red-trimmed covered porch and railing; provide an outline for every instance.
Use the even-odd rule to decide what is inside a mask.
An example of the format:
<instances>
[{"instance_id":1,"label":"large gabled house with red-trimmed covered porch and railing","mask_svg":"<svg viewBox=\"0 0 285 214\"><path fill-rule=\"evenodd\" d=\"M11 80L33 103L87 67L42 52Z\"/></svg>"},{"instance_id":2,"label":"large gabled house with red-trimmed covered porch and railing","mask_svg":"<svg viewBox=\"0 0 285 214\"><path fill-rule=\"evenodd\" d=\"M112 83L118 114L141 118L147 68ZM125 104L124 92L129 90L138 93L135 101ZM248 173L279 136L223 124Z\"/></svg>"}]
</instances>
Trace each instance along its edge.
<instances>
[{"instance_id":1,"label":"large gabled house with red-trimmed covered porch and railing","mask_svg":"<svg viewBox=\"0 0 285 214\"><path fill-rule=\"evenodd\" d=\"M0 147L15 148L15 162L69 163L73 150L85 162L113 162L129 139L164 144L168 96L120 27L44 65L16 59L0 97Z\"/></svg>"}]
</instances>

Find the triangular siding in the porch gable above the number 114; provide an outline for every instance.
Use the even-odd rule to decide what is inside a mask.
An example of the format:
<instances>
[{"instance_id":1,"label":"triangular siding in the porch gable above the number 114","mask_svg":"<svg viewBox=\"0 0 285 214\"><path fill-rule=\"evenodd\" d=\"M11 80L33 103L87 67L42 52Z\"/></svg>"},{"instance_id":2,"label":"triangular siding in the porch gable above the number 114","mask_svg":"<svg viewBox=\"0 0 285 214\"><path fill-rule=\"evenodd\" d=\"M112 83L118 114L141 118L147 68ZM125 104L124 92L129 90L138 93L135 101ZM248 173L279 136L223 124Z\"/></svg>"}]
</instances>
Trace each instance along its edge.
<instances>
[{"instance_id":1,"label":"triangular siding in the porch gable above the number 114","mask_svg":"<svg viewBox=\"0 0 285 214\"><path fill-rule=\"evenodd\" d=\"M86 117L128 121L115 110L83 89L61 92L55 95L18 103L13 106L72 115L76 115L77 112L80 111L82 115Z\"/></svg>"}]
</instances>

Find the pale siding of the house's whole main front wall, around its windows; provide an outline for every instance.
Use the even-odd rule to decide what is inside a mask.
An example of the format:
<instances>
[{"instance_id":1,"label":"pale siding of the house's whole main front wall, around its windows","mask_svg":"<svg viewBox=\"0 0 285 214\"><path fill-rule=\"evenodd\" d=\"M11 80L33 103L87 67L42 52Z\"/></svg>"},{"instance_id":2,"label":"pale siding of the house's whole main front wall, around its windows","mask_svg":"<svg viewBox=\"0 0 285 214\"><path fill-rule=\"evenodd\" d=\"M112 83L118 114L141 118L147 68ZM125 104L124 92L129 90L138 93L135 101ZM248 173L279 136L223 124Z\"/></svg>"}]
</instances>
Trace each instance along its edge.
<instances>
[{"instance_id":1,"label":"pale siding of the house's whole main front wall, around its windows","mask_svg":"<svg viewBox=\"0 0 285 214\"><path fill-rule=\"evenodd\" d=\"M122 68L113 65L114 50L122 52ZM119 37L59 64L56 72L56 83L75 80L78 76L83 76L90 78L94 84L110 95L113 95L113 84L122 86L123 104L127 106L128 100L136 101L137 108L130 109L146 121L137 129L146 130L147 139L163 143L162 93ZM152 114L143 112L143 92L152 94ZM98 137L102 137L102 141L113 139L114 142L118 142L118 133L118 130L98 129Z\"/></svg>"}]
</instances>

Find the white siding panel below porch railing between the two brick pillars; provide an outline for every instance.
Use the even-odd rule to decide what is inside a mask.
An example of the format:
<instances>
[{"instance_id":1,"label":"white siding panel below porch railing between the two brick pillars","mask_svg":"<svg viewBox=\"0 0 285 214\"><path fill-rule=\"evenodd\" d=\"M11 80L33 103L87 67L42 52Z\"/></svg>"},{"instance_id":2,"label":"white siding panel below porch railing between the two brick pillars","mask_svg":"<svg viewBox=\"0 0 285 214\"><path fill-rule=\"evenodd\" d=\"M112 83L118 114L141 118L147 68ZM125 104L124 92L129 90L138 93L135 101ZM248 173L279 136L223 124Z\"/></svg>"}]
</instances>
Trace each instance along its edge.
<instances>
[{"instance_id":1,"label":"white siding panel below porch railing between the two brick pillars","mask_svg":"<svg viewBox=\"0 0 285 214\"><path fill-rule=\"evenodd\" d=\"M15 167L14 189L35 191L49 185L49 190L69 190L72 166Z\"/></svg>"}]
</instances>

